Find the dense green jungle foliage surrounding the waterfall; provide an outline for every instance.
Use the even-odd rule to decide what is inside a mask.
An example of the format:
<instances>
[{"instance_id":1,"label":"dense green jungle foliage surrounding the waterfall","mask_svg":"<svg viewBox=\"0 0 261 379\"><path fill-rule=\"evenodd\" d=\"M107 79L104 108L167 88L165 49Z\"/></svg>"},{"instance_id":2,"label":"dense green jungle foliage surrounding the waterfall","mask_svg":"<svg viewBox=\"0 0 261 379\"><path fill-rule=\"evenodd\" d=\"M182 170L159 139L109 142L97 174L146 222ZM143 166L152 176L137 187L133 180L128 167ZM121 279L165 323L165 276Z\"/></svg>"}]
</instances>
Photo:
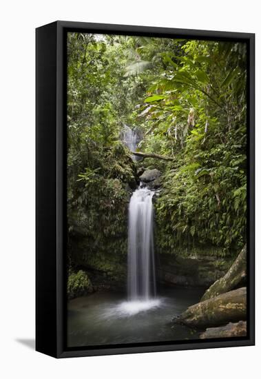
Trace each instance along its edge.
<instances>
[{"instance_id":1,"label":"dense green jungle foliage surrounding the waterfall","mask_svg":"<svg viewBox=\"0 0 261 379\"><path fill-rule=\"evenodd\" d=\"M163 173L158 252L233 256L246 239L246 46L70 33L67 52L70 267L123 275L140 166ZM173 161L134 163L124 123L140 152Z\"/></svg>"}]
</instances>

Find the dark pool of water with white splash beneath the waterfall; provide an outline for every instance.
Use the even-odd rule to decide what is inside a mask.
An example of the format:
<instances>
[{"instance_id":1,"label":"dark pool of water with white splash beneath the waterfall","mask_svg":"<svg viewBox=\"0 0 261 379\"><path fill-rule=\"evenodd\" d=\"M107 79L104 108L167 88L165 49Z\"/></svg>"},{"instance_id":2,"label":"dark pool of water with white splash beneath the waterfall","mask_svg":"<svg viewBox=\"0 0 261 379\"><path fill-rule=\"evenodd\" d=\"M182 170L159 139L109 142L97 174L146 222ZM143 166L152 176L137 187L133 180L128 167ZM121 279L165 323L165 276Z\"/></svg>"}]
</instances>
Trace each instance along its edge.
<instances>
[{"instance_id":1,"label":"dark pool of water with white splash beneath the waterfall","mask_svg":"<svg viewBox=\"0 0 261 379\"><path fill-rule=\"evenodd\" d=\"M67 346L114 345L198 338L171 319L198 303L202 289L171 288L152 302L128 303L123 294L94 293L68 303Z\"/></svg>"}]
</instances>

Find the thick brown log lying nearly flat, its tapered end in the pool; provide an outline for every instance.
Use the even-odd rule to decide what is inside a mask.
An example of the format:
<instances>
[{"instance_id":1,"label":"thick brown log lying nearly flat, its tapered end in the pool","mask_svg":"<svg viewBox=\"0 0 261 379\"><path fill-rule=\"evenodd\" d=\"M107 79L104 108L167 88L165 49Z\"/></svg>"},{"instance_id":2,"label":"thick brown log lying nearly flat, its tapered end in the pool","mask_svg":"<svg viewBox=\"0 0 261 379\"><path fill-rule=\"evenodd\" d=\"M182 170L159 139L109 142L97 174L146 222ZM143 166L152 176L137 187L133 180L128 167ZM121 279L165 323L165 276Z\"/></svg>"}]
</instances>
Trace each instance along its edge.
<instances>
[{"instance_id":1,"label":"thick brown log lying nearly flat, its tapered end in the pool","mask_svg":"<svg viewBox=\"0 0 261 379\"><path fill-rule=\"evenodd\" d=\"M189 307L173 322L188 327L205 329L237 322L247 318L247 288L242 287L215 296Z\"/></svg>"}]
</instances>

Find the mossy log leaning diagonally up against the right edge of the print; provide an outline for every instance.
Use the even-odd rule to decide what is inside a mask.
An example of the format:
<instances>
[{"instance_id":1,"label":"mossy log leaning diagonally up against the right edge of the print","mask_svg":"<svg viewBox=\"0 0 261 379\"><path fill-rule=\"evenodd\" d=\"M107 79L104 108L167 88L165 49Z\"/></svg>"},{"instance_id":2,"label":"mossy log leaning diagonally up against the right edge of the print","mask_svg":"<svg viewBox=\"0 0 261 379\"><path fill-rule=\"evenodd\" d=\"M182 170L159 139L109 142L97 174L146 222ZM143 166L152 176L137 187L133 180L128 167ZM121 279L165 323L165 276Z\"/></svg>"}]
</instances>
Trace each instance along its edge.
<instances>
[{"instance_id":1,"label":"mossy log leaning diagonally up against the right edge of the print","mask_svg":"<svg viewBox=\"0 0 261 379\"><path fill-rule=\"evenodd\" d=\"M235 289L240 284L242 285L242 281L246 278L246 276L247 247L244 246L233 265L231 265L227 274L216 280L216 282L213 283L207 291L205 291L205 294L202 296L200 301L213 298L213 296L218 296L220 294L224 294L225 292L231 291L231 289Z\"/></svg>"}]
</instances>

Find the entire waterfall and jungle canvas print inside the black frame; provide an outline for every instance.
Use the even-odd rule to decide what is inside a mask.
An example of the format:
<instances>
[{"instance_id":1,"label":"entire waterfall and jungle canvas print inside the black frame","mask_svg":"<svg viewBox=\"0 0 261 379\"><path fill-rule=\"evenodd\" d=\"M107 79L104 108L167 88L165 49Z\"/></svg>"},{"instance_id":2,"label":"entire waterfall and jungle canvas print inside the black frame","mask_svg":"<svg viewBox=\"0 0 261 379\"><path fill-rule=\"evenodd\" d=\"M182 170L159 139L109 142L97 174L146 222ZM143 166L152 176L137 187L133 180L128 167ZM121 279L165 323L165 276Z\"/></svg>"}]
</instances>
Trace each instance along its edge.
<instances>
[{"instance_id":1,"label":"entire waterfall and jungle canvas print inside the black frame","mask_svg":"<svg viewBox=\"0 0 261 379\"><path fill-rule=\"evenodd\" d=\"M67 347L247 336L247 59L67 32Z\"/></svg>"}]
</instances>

